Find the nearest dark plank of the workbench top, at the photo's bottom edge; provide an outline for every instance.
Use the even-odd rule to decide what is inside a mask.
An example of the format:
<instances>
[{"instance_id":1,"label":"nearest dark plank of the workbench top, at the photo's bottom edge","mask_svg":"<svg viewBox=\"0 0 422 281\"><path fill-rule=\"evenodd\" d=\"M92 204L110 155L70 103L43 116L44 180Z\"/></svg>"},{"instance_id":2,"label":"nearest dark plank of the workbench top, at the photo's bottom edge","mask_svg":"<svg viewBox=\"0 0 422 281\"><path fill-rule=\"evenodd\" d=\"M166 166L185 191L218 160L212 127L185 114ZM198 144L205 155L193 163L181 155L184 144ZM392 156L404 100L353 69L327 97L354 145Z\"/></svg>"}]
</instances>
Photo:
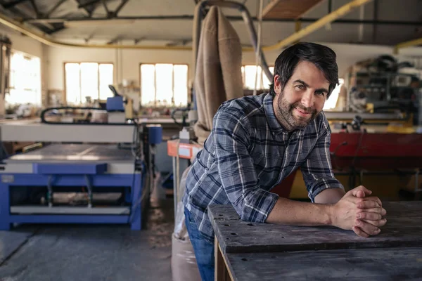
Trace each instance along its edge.
<instances>
[{"instance_id":1,"label":"nearest dark plank of the workbench top, at the photo's bottom edge","mask_svg":"<svg viewBox=\"0 0 422 281\"><path fill-rule=\"evenodd\" d=\"M422 248L226 254L234 280L420 280Z\"/></svg>"}]
</instances>

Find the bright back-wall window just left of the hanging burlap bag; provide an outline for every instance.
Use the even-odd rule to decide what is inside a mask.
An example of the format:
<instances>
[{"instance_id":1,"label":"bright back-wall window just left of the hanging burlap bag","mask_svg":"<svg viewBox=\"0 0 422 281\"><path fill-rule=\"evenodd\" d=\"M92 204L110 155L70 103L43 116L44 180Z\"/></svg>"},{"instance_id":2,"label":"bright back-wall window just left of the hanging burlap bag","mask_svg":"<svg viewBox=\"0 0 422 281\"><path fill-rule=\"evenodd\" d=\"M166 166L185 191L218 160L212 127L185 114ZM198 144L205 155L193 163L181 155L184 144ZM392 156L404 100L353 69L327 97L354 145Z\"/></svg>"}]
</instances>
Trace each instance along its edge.
<instances>
[{"instance_id":1,"label":"bright back-wall window just left of the hanging burlap bag","mask_svg":"<svg viewBox=\"0 0 422 281\"><path fill-rule=\"evenodd\" d=\"M141 105L146 107L188 104L188 65L141 64Z\"/></svg>"}]
</instances>

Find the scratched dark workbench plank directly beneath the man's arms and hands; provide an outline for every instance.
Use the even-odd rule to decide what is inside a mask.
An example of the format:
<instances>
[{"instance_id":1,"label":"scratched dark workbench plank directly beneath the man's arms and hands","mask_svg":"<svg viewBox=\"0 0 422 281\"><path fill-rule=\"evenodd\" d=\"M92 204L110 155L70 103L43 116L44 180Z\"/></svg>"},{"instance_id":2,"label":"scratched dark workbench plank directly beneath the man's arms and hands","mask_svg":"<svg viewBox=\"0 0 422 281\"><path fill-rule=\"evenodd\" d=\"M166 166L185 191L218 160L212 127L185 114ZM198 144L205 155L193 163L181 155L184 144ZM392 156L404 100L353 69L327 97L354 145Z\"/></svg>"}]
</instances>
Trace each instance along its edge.
<instances>
[{"instance_id":1,"label":"scratched dark workbench plank directly beneath the man's arms and hands","mask_svg":"<svg viewBox=\"0 0 422 281\"><path fill-rule=\"evenodd\" d=\"M383 202L383 207L387 224L369 238L335 227L241 221L229 205L208 207L208 216L224 253L422 247L422 202Z\"/></svg>"}]
</instances>

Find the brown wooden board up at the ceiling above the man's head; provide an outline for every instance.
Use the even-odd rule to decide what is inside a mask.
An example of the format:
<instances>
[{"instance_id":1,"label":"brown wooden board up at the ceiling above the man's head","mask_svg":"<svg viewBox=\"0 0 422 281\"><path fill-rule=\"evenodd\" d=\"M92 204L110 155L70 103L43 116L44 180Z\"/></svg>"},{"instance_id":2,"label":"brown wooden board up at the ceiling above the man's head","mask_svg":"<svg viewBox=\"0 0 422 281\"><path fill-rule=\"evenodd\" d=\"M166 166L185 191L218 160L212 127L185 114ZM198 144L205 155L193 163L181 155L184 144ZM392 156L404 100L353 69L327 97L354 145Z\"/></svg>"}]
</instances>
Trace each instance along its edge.
<instances>
[{"instance_id":1,"label":"brown wooden board up at the ceiling above the man's head","mask_svg":"<svg viewBox=\"0 0 422 281\"><path fill-rule=\"evenodd\" d=\"M322 0L273 0L265 6L262 18L298 19Z\"/></svg>"}]
</instances>

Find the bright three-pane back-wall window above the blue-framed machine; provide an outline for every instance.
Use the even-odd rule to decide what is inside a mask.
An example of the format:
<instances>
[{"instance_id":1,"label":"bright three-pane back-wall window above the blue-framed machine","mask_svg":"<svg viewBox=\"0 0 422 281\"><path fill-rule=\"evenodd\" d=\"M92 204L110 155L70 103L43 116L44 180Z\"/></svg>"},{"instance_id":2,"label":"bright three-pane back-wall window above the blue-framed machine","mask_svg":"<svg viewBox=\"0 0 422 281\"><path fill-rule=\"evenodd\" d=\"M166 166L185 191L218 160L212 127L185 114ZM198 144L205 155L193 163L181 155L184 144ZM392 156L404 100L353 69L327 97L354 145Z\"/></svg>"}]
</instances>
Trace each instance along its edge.
<instances>
[{"instance_id":1,"label":"bright three-pane back-wall window above the blue-framed machine","mask_svg":"<svg viewBox=\"0 0 422 281\"><path fill-rule=\"evenodd\" d=\"M70 104L91 100L106 100L113 96L108 85L113 84L112 63L65 63L66 101Z\"/></svg>"}]
</instances>

